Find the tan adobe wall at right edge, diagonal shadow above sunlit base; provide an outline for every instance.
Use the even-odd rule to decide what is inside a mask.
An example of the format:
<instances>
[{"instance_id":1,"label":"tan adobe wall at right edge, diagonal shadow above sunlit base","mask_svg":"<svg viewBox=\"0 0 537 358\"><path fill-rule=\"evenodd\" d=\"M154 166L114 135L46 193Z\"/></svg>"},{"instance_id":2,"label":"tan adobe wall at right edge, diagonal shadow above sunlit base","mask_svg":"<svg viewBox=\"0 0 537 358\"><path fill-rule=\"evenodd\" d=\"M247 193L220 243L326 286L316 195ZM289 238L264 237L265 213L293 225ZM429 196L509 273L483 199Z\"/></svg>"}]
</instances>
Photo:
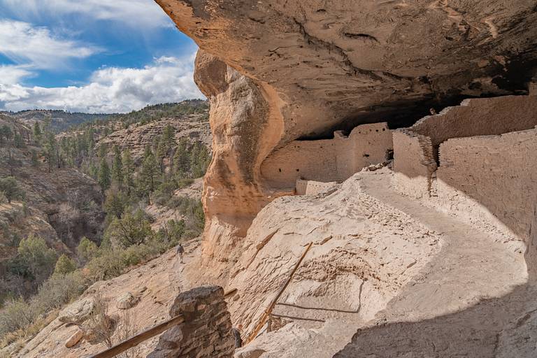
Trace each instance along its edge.
<instances>
[{"instance_id":1,"label":"tan adobe wall at right edge, diagonal shadow above sunlit base","mask_svg":"<svg viewBox=\"0 0 537 358\"><path fill-rule=\"evenodd\" d=\"M527 241L537 215L536 152L537 129L445 141L439 203L470 220L505 225Z\"/></svg>"}]
</instances>

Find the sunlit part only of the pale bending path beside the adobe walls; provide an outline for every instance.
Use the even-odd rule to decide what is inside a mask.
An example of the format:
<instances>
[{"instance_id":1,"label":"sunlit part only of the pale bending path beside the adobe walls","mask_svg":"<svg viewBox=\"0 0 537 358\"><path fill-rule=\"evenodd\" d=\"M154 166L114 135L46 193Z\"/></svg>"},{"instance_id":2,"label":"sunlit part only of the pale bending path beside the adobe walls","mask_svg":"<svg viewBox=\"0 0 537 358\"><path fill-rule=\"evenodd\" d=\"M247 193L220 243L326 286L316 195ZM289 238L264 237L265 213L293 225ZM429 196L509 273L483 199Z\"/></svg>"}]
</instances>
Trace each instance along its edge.
<instances>
[{"instance_id":1,"label":"sunlit part only of the pale bending path beside the adobe walls","mask_svg":"<svg viewBox=\"0 0 537 358\"><path fill-rule=\"evenodd\" d=\"M409 287L392 301L386 317L424 319L462 310L481 299L501 297L527 281L524 255L491 234L423 206L391 188L392 172L364 173L368 194L412 215L444 238L441 252Z\"/></svg>"}]
</instances>

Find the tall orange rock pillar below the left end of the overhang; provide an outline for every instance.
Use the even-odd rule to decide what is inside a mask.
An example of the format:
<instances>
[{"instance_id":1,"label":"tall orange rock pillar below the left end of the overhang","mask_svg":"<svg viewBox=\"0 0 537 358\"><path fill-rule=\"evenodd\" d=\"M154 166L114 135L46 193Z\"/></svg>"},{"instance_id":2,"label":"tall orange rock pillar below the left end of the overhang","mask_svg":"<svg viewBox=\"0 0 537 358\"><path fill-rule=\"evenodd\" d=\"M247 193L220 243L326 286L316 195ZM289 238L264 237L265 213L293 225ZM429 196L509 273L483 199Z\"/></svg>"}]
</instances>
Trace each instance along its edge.
<instances>
[{"instance_id":1,"label":"tall orange rock pillar below the left end of the overhang","mask_svg":"<svg viewBox=\"0 0 537 358\"><path fill-rule=\"evenodd\" d=\"M278 99L200 51L194 80L210 100L213 159L205 176L206 259L227 262L255 215L273 199L262 185L260 167L281 136Z\"/></svg>"}]
</instances>

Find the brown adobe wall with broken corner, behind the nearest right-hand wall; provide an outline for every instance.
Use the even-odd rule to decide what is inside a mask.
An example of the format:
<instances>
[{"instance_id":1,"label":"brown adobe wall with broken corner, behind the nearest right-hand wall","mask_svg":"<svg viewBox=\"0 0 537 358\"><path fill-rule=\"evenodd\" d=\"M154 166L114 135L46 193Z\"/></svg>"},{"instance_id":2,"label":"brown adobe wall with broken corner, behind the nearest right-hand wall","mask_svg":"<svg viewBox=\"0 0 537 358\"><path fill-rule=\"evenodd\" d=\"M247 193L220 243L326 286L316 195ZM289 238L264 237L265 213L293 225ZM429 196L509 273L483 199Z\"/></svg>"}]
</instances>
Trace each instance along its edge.
<instances>
[{"instance_id":1,"label":"brown adobe wall with broken corner, behind the nearest right-hand wall","mask_svg":"<svg viewBox=\"0 0 537 358\"><path fill-rule=\"evenodd\" d=\"M394 131L394 187L410 196L429 196L441 143L532 129L537 125L536 108L537 96L467 99Z\"/></svg>"}]
</instances>

